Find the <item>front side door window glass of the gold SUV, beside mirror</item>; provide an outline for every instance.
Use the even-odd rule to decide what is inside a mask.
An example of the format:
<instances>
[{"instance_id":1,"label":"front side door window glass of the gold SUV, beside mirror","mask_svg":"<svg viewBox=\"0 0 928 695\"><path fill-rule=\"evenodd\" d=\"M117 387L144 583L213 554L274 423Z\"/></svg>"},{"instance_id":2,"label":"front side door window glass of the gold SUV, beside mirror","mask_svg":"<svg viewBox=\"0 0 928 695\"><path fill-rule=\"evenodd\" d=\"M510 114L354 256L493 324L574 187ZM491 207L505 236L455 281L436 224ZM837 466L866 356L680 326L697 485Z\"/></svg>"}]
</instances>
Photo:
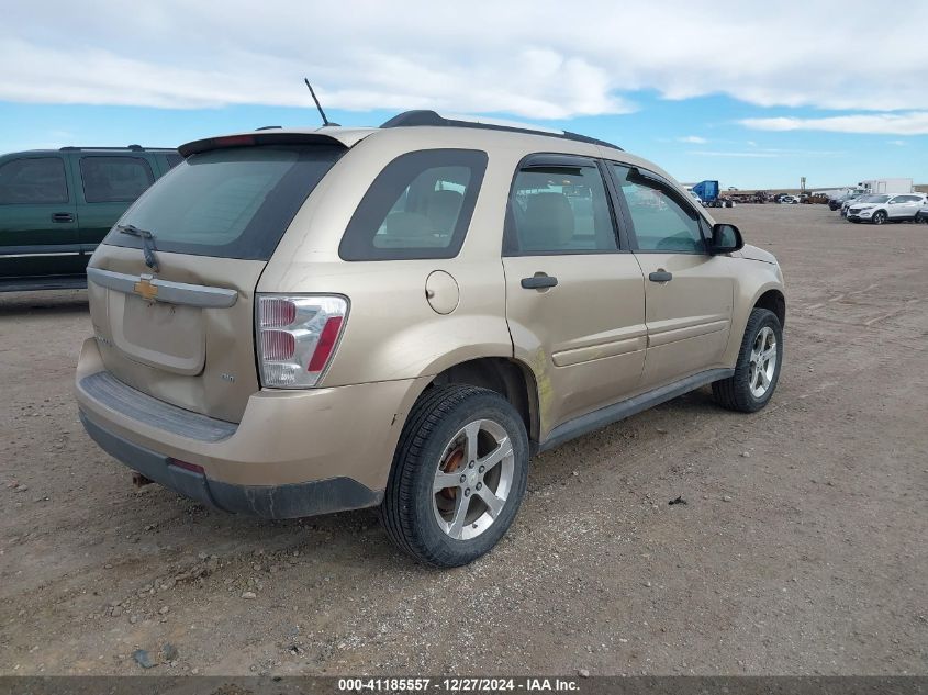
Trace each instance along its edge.
<instances>
[{"instance_id":1,"label":"front side door window glass of the gold SUV, beside mirror","mask_svg":"<svg viewBox=\"0 0 928 695\"><path fill-rule=\"evenodd\" d=\"M700 215L682 195L657 177L613 165L620 194L625 198L638 248L646 251L701 254L705 242Z\"/></svg>"}]
</instances>

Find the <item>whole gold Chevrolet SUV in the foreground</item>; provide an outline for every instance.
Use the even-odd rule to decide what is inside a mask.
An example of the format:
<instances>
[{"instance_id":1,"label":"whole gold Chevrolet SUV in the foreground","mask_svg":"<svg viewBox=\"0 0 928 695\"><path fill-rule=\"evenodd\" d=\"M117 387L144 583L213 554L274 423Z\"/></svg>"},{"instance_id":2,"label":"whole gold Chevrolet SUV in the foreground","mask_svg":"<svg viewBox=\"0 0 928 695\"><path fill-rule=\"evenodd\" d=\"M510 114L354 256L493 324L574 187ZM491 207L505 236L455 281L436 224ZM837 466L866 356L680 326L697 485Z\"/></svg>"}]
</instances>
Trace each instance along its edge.
<instances>
[{"instance_id":1,"label":"whole gold Chevrolet SUV in the foreground","mask_svg":"<svg viewBox=\"0 0 928 695\"><path fill-rule=\"evenodd\" d=\"M228 512L379 507L490 550L528 460L712 384L763 407L783 277L601 141L401 114L189 143L88 268L77 399L110 455Z\"/></svg>"}]
</instances>

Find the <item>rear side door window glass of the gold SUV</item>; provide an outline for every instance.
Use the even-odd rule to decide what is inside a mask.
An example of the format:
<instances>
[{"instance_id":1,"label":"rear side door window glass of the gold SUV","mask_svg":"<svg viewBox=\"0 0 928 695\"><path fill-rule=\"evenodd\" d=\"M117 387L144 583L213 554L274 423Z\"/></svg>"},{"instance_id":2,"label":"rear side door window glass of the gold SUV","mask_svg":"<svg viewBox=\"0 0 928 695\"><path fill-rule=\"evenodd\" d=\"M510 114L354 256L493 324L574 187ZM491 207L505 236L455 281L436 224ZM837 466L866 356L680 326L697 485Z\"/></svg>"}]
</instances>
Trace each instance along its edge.
<instances>
[{"instance_id":1,"label":"rear side door window glass of the gold SUV","mask_svg":"<svg viewBox=\"0 0 928 695\"><path fill-rule=\"evenodd\" d=\"M507 243L522 254L616 250L600 170L588 166L528 167L515 177Z\"/></svg>"}]
</instances>

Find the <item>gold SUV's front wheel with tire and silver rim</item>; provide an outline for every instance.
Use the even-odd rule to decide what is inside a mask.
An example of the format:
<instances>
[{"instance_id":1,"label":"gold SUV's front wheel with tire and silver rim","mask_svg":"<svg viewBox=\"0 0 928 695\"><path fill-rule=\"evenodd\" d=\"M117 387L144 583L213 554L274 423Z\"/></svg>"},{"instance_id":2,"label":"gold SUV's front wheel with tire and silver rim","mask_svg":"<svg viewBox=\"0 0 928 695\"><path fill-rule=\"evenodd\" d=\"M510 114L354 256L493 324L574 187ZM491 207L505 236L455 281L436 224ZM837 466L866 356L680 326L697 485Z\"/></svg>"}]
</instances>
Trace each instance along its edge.
<instances>
[{"instance_id":1,"label":"gold SUV's front wheel with tire and silver rim","mask_svg":"<svg viewBox=\"0 0 928 695\"><path fill-rule=\"evenodd\" d=\"M783 363L783 328L776 314L754 309L745 327L735 373L712 384L719 405L753 413L768 404L780 380Z\"/></svg>"}]
</instances>

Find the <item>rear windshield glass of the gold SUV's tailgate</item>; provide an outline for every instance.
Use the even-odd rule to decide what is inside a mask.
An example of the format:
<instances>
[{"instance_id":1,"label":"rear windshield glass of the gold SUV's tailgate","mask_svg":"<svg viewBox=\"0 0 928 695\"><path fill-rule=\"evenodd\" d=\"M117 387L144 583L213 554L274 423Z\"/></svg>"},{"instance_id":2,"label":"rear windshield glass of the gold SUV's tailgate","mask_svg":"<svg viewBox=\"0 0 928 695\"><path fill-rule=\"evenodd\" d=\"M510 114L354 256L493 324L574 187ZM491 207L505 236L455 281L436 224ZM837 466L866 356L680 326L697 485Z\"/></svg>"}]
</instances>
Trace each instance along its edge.
<instances>
[{"instance_id":1,"label":"rear windshield glass of the gold SUV's tailgate","mask_svg":"<svg viewBox=\"0 0 928 695\"><path fill-rule=\"evenodd\" d=\"M120 220L154 235L161 251L268 260L293 216L345 152L261 146L191 155ZM113 228L105 244L138 248Z\"/></svg>"}]
</instances>

